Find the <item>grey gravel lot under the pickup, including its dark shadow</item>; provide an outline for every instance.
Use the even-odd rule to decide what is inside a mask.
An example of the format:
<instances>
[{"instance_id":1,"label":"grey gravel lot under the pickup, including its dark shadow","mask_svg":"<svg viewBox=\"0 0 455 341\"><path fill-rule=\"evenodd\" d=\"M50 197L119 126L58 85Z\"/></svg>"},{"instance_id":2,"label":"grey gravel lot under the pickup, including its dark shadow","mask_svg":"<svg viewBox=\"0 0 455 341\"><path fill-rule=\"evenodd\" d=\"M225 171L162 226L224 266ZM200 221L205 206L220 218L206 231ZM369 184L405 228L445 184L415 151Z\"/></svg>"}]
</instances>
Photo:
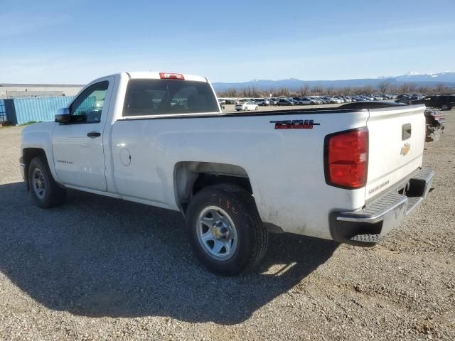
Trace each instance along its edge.
<instances>
[{"instance_id":1,"label":"grey gravel lot under the pickup, including its dark shadow","mask_svg":"<svg viewBox=\"0 0 455 341\"><path fill-rule=\"evenodd\" d=\"M455 340L455 110L434 190L373 249L272 235L253 274L203 270L176 212L70 192L34 206L0 128L0 340Z\"/></svg>"}]
</instances>

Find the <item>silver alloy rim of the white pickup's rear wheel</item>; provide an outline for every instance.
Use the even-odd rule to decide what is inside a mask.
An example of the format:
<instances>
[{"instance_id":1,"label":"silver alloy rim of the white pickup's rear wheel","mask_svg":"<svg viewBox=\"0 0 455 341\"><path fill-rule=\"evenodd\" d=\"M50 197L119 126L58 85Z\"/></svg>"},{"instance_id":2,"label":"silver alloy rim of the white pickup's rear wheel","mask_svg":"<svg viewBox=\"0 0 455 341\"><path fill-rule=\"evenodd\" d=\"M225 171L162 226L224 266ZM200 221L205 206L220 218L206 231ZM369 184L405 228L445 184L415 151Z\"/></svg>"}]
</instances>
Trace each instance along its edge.
<instances>
[{"instance_id":1,"label":"silver alloy rim of the white pickup's rear wheel","mask_svg":"<svg viewBox=\"0 0 455 341\"><path fill-rule=\"evenodd\" d=\"M228 212L220 207L208 206L200 211L196 233L200 246L215 260L226 261L237 251L237 229Z\"/></svg>"}]
</instances>

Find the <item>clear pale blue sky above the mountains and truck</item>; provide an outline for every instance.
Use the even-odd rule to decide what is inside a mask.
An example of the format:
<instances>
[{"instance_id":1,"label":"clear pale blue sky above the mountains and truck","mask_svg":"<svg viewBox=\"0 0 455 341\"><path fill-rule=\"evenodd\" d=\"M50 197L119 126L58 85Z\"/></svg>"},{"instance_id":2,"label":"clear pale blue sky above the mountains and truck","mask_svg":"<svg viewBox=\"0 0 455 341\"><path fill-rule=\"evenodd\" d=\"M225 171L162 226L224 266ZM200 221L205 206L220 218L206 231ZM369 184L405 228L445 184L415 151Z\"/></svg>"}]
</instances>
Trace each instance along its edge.
<instances>
[{"instance_id":1,"label":"clear pale blue sky above the mountains and truck","mask_svg":"<svg viewBox=\"0 0 455 341\"><path fill-rule=\"evenodd\" d=\"M455 1L6 1L0 82L124 70L339 80L455 71Z\"/></svg>"}]
</instances>

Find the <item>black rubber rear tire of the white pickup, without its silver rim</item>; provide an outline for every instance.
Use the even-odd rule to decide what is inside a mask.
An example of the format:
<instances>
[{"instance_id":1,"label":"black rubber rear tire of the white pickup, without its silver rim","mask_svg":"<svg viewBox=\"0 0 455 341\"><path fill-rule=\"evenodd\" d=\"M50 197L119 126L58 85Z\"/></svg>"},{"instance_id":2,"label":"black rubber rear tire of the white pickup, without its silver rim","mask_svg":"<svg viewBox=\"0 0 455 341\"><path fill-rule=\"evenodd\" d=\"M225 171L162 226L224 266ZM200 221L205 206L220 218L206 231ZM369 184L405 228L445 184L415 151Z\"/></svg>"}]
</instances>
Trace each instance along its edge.
<instances>
[{"instance_id":1,"label":"black rubber rear tire of the white pickup, without its silver rim","mask_svg":"<svg viewBox=\"0 0 455 341\"><path fill-rule=\"evenodd\" d=\"M237 232L237 247L226 260L214 259L198 239L198 217L207 207L213 206L228 212ZM215 274L232 276L252 269L267 251L269 236L255 201L239 186L220 184L200 190L188 205L186 222L186 232L196 258Z\"/></svg>"}]
</instances>

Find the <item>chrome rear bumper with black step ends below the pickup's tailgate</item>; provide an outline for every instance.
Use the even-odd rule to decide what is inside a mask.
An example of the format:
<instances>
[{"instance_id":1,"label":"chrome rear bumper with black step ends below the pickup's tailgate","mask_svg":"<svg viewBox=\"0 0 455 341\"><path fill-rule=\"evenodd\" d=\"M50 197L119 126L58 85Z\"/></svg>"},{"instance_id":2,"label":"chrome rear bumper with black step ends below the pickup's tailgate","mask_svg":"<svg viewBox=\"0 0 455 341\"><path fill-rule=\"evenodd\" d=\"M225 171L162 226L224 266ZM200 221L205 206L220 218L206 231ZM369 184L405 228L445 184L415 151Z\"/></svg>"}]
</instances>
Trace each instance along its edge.
<instances>
[{"instance_id":1,"label":"chrome rear bumper with black step ends below the pickup's tailgate","mask_svg":"<svg viewBox=\"0 0 455 341\"><path fill-rule=\"evenodd\" d=\"M405 182L405 191L400 185L369 202L362 210L332 212L332 239L363 247L374 246L422 203L432 185L433 177L434 171L431 168L421 168Z\"/></svg>"}]
</instances>

